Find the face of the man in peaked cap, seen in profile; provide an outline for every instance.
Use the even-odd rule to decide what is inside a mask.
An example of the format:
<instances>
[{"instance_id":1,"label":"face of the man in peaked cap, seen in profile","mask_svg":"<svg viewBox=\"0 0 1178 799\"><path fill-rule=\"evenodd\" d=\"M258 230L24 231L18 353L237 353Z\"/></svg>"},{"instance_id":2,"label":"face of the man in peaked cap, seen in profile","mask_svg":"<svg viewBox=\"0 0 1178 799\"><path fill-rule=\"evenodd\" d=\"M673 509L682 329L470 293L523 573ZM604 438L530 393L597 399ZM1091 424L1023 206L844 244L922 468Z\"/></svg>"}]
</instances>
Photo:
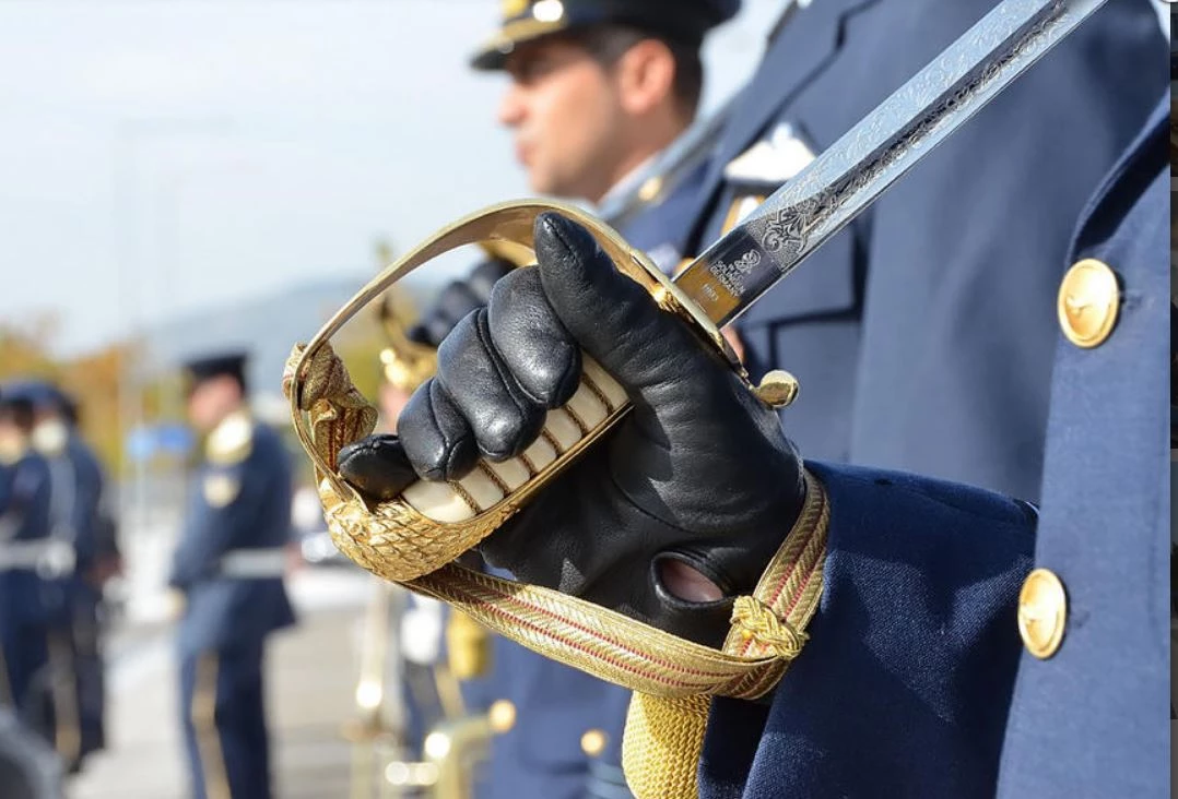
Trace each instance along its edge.
<instances>
[{"instance_id":1,"label":"face of the man in peaked cap, seen in profile","mask_svg":"<svg viewBox=\"0 0 1178 799\"><path fill-rule=\"evenodd\" d=\"M578 44L547 38L509 56L499 121L541 194L596 201L613 179L622 107L614 75Z\"/></svg>"}]
</instances>

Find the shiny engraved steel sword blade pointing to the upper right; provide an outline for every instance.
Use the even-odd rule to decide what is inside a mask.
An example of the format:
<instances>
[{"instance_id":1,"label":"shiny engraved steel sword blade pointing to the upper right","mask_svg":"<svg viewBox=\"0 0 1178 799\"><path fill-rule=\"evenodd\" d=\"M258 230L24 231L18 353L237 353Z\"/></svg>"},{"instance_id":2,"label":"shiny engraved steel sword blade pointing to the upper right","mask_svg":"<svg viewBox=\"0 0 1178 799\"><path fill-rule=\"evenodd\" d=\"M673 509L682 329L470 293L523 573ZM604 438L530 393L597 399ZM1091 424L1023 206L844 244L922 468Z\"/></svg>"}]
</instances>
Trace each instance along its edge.
<instances>
[{"instance_id":1,"label":"shiny engraved steel sword blade pointing to the upper right","mask_svg":"<svg viewBox=\"0 0 1178 799\"><path fill-rule=\"evenodd\" d=\"M1004 0L675 284L717 326L733 321L1105 2Z\"/></svg>"}]
</instances>

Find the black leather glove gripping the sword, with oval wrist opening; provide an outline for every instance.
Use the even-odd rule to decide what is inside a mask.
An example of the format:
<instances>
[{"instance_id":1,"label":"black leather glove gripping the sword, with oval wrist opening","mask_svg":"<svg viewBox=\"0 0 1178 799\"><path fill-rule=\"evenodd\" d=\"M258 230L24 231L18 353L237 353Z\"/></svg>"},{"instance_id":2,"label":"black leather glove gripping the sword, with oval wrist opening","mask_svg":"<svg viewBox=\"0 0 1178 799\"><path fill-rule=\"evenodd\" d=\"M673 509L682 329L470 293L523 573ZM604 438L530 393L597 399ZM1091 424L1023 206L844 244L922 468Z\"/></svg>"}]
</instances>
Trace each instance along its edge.
<instances>
[{"instance_id":1,"label":"black leather glove gripping the sword, with oval wrist opening","mask_svg":"<svg viewBox=\"0 0 1178 799\"><path fill-rule=\"evenodd\" d=\"M499 280L489 307L442 344L401 440L351 445L340 471L389 498L415 470L452 479L479 454L519 453L576 389L583 348L634 408L479 550L521 580L719 646L732 598L752 592L798 518L801 461L777 414L583 228L544 214L536 247L540 266ZM671 592L701 575L704 591L688 593L706 601Z\"/></svg>"}]
</instances>

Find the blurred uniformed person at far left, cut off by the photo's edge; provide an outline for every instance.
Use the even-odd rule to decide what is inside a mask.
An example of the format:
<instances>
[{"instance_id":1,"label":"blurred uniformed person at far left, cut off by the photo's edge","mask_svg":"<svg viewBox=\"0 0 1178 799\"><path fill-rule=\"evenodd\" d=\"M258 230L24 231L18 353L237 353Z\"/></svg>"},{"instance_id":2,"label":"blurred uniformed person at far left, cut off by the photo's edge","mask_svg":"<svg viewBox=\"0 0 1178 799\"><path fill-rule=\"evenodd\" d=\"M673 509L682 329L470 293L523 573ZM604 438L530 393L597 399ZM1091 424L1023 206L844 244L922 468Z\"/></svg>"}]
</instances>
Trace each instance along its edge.
<instances>
[{"instance_id":1,"label":"blurred uniformed person at far left, cut off by the photo's edge","mask_svg":"<svg viewBox=\"0 0 1178 799\"><path fill-rule=\"evenodd\" d=\"M51 573L49 468L32 447L33 404L0 386L0 698L54 744L49 630L65 617Z\"/></svg>"}]
</instances>

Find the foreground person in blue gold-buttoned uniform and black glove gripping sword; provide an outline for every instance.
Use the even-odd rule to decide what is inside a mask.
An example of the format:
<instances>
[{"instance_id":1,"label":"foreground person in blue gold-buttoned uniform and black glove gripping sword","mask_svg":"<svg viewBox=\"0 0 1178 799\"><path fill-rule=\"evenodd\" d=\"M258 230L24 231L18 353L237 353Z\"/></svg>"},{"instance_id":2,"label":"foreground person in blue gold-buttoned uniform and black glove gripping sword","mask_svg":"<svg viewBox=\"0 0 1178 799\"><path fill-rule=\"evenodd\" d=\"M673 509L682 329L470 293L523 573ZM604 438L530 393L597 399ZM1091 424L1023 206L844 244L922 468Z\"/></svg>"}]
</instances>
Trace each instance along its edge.
<instances>
[{"instance_id":1,"label":"foreground person in blue gold-buttoned uniform and black glove gripping sword","mask_svg":"<svg viewBox=\"0 0 1178 799\"><path fill-rule=\"evenodd\" d=\"M789 668L763 700L714 700L703 799L1165 795L1167 95L1084 204L1059 269L1041 507L803 461L773 408L556 215L537 222L543 280L516 273L504 306L492 297L494 344L446 341L454 407L563 378L582 348L633 402L602 457L481 545L522 579L719 646L736 598L798 546L781 550L774 608L754 604L775 625L741 627L750 645L788 645ZM429 410L415 397L401 419L404 451L428 453L412 470L357 447L345 477L377 495L461 477L446 473L455 446L410 441L438 440ZM463 417L446 440L495 430L498 414ZM803 514L812 504L828 515Z\"/></svg>"}]
</instances>

